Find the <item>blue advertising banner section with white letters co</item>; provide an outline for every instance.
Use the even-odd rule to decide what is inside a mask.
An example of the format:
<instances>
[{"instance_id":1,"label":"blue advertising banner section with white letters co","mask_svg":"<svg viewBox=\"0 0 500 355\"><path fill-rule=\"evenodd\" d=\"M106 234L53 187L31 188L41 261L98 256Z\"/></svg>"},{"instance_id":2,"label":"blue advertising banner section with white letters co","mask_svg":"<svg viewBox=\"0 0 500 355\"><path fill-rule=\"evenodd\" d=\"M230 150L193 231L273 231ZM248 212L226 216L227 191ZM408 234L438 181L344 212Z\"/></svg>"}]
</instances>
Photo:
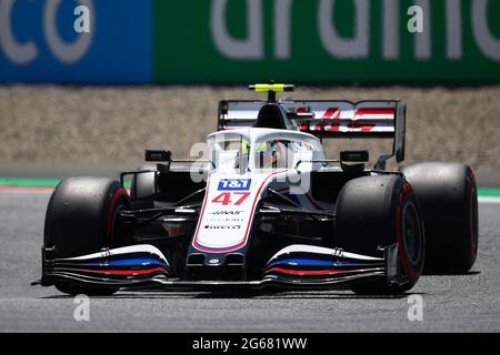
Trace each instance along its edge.
<instances>
[{"instance_id":1,"label":"blue advertising banner section with white letters co","mask_svg":"<svg viewBox=\"0 0 500 355\"><path fill-rule=\"evenodd\" d=\"M0 81L150 82L151 16L150 0L0 0Z\"/></svg>"}]
</instances>

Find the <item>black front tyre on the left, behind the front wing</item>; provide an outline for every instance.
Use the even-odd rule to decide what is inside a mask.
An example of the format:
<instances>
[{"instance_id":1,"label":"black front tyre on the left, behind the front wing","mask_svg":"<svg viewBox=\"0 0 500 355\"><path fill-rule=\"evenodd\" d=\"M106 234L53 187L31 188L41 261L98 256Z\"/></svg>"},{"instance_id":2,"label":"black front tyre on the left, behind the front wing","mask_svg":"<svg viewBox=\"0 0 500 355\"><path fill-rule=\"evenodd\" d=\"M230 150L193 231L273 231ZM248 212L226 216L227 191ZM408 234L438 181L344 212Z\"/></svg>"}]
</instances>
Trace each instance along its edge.
<instances>
[{"instance_id":1,"label":"black front tyre on the left, behind the front wing","mask_svg":"<svg viewBox=\"0 0 500 355\"><path fill-rule=\"evenodd\" d=\"M69 178L59 183L47 207L44 247L54 247L54 258L73 257L130 243L117 213L130 206L127 190L106 178ZM67 294L110 295L118 288L97 288L71 282L56 287Z\"/></svg>"}]
</instances>

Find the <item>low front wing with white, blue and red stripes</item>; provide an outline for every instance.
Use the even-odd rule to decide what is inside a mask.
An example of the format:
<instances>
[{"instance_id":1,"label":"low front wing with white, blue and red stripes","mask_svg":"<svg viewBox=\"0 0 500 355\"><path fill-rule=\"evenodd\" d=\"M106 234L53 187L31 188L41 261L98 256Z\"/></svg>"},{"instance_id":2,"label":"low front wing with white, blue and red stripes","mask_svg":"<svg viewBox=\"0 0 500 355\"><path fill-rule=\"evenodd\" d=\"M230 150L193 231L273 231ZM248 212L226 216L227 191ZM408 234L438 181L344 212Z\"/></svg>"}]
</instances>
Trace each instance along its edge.
<instances>
[{"instance_id":1,"label":"low front wing with white, blue and red stripes","mask_svg":"<svg viewBox=\"0 0 500 355\"><path fill-rule=\"evenodd\" d=\"M353 283L377 280L389 285L406 283L399 271L398 245L386 246L381 252L383 257L372 257L341 248L294 244L271 257L261 280L188 281L169 277L169 262L149 244L103 248L99 253L67 258L50 258L51 251L42 248L42 278L33 284L73 283L128 290L217 290L267 286L347 288Z\"/></svg>"}]
</instances>

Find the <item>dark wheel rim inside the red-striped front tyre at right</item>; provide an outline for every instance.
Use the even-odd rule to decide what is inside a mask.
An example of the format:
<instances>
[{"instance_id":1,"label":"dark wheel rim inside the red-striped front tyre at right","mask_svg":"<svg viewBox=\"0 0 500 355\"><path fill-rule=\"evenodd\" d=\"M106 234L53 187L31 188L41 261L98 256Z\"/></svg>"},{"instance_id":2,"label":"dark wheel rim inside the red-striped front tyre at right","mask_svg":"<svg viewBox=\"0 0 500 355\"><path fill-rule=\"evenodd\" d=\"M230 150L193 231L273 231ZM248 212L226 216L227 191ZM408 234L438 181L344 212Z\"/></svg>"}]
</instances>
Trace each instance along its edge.
<instances>
[{"instance_id":1,"label":"dark wheel rim inside the red-striped front tyre at right","mask_svg":"<svg viewBox=\"0 0 500 355\"><path fill-rule=\"evenodd\" d=\"M402 210L402 240L412 265L418 265L422 253L422 237L417 207L412 202L404 204Z\"/></svg>"}]
</instances>

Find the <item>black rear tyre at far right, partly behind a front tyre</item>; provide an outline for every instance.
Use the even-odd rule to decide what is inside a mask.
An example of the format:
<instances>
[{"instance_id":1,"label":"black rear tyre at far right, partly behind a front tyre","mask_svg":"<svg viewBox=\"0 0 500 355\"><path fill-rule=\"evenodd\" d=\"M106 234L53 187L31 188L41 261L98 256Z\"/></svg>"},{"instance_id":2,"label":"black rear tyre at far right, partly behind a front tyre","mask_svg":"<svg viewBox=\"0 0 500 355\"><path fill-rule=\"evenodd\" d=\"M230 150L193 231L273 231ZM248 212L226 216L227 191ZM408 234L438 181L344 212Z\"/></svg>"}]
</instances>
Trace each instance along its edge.
<instances>
[{"instance_id":1,"label":"black rear tyre at far right, partly behind a front tyre","mask_svg":"<svg viewBox=\"0 0 500 355\"><path fill-rule=\"evenodd\" d=\"M467 273L478 255L478 193L472 170L423 162L401 169L422 206L427 274Z\"/></svg>"}]
</instances>

